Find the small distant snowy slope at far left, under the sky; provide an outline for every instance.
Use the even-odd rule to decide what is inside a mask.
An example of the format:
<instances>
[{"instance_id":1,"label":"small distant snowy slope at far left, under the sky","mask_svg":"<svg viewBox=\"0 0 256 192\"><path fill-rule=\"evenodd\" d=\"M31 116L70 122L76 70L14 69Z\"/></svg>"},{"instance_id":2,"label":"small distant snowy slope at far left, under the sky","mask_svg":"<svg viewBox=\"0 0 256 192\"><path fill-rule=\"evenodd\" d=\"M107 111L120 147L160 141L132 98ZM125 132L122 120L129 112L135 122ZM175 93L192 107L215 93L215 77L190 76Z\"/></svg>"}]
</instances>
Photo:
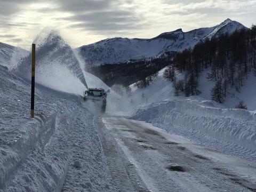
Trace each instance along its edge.
<instances>
[{"instance_id":1,"label":"small distant snowy slope at far left, under the sky","mask_svg":"<svg viewBox=\"0 0 256 192\"><path fill-rule=\"evenodd\" d=\"M28 51L19 47L0 42L0 65L6 66L9 69L13 68L13 65L17 63L15 61L19 60L19 58L27 53Z\"/></svg>"}]
</instances>

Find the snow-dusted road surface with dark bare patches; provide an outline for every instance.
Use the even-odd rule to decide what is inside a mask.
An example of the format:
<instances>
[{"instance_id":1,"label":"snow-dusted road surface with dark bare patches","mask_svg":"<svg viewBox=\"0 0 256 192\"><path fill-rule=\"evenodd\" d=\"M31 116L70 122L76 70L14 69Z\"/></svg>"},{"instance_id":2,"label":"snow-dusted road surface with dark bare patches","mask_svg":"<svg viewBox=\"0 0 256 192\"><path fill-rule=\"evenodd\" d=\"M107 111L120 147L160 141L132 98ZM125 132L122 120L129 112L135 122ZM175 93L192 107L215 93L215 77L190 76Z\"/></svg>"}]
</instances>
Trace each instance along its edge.
<instances>
[{"instance_id":1,"label":"snow-dusted road surface with dark bare patches","mask_svg":"<svg viewBox=\"0 0 256 192\"><path fill-rule=\"evenodd\" d=\"M252 162L124 117L98 127L116 191L256 191Z\"/></svg>"}]
</instances>

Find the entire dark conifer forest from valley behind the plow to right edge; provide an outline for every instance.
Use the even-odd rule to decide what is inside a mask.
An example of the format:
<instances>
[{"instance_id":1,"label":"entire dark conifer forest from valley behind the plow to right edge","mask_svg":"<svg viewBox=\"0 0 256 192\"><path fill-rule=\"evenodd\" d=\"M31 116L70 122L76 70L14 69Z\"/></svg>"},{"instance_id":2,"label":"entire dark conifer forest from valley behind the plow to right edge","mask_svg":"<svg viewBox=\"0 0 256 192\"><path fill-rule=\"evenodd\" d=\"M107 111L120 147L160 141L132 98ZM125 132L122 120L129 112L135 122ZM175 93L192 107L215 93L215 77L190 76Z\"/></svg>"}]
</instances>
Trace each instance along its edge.
<instances>
[{"instance_id":1,"label":"entire dark conifer forest from valley behind the plow to right edge","mask_svg":"<svg viewBox=\"0 0 256 192\"><path fill-rule=\"evenodd\" d=\"M211 99L222 103L229 90L239 92L250 73L256 71L256 26L221 34L197 43L182 52L166 52L161 57L130 60L129 62L87 66L87 71L109 86L135 83L138 88L148 86L157 71L166 67L163 76L173 83L175 95L198 95L199 77L207 69L206 81L214 83ZM122 65L120 65L122 64ZM177 79L175 73L183 74ZM255 72L256 73L256 72ZM244 103L239 108L246 108Z\"/></svg>"}]
</instances>

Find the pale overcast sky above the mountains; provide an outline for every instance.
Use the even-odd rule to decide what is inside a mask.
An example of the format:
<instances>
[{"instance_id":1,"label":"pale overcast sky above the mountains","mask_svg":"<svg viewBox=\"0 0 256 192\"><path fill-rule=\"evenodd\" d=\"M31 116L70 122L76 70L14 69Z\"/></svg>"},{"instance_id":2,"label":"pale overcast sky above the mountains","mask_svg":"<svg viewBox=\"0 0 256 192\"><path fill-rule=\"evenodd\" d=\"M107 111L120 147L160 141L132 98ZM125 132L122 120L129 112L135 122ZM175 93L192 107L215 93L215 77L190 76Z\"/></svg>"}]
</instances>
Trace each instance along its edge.
<instances>
[{"instance_id":1,"label":"pale overcast sky above the mountains","mask_svg":"<svg viewBox=\"0 0 256 192\"><path fill-rule=\"evenodd\" d=\"M72 46L104 38L151 38L218 25L256 23L256 0L0 0L0 42L30 47L43 29L59 30Z\"/></svg>"}]
</instances>

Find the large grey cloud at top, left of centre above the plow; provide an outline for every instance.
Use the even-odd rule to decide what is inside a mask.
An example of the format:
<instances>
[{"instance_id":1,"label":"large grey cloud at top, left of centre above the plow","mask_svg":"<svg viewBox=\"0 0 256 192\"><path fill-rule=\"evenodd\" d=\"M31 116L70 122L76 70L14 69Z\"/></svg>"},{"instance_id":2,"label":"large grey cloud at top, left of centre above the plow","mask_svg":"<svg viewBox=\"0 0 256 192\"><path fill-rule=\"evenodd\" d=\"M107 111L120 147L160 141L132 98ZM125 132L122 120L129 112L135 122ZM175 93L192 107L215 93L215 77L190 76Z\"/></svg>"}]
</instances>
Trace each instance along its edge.
<instances>
[{"instance_id":1,"label":"large grey cloud at top, left of centre above the plow","mask_svg":"<svg viewBox=\"0 0 256 192\"><path fill-rule=\"evenodd\" d=\"M123 3L130 4L130 0L119 1L80 1L71 5L69 1L61 2L61 9L71 11L74 16L61 18L73 21L70 27L93 30L94 33L111 33L138 28L143 19L138 17L132 9L124 9ZM76 4L77 3L77 4Z\"/></svg>"}]
</instances>

